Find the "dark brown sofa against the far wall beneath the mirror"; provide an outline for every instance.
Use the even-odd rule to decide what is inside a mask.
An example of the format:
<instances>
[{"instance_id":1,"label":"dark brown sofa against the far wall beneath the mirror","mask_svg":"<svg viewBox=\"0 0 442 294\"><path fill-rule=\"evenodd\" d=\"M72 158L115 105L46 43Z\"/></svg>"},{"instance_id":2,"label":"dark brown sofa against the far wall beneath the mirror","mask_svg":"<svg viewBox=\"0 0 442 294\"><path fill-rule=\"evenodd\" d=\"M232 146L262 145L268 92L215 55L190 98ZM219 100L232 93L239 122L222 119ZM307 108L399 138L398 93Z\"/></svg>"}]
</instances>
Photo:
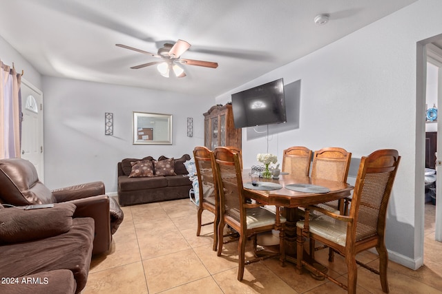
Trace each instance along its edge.
<instances>
[{"instance_id":1,"label":"dark brown sofa against the far wall beneath the mirror","mask_svg":"<svg viewBox=\"0 0 442 294\"><path fill-rule=\"evenodd\" d=\"M167 159L172 158L160 156L157 161ZM154 159L151 156L142 159L124 158L117 164L119 204L126 206L189 197L192 182L186 176L188 172L184 162L190 159L189 154L184 154L181 158L173 158L175 175L157 176L154 170L154 176L131 177L131 162Z\"/></svg>"}]
</instances>

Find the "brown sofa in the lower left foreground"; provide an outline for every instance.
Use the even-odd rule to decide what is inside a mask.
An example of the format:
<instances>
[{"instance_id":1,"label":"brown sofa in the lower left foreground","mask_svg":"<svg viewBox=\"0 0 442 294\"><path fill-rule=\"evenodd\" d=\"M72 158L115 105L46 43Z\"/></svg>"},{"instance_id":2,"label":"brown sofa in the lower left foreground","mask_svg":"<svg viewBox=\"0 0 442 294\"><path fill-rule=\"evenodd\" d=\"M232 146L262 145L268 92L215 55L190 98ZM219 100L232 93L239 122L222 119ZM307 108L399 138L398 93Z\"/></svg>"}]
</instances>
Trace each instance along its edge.
<instances>
[{"instance_id":1,"label":"brown sofa in the lower left foreground","mask_svg":"<svg viewBox=\"0 0 442 294\"><path fill-rule=\"evenodd\" d=\"M80 293L93 250L93 218L72 202L45 209L0 204L0 293Z\"/></svg>"}]
</instances>

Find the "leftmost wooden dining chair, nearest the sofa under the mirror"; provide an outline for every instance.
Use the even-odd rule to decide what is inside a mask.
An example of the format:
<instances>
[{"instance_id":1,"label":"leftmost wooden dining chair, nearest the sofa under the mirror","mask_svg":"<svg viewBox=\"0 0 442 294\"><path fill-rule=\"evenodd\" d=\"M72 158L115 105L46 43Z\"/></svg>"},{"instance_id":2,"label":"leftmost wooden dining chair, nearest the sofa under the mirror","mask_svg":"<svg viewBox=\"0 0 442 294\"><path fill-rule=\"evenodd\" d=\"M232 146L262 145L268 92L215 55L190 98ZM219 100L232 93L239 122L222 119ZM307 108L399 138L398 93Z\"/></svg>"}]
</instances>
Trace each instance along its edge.
<instances>
[{"instance_id":1,"label":"leftmost wooden dining chair, nearest the sofa under the mirror","mask_svg":"<svg viewBox=\"0 0 442 294\"><path fill-rule=\"evenodd\" d=\"M198 206L198 227L196 235L200 235L201 227L213 224L213 251L218 246L218 224L220 223L220 209L218 198L218 187L216 185L216 174L214 169L215 158L213 152L203 146L197 146L193 149L193 158L198 176L198 186L200 202ZM213 222L202 224L202 212L206 209L215 215Z\"/></svg>"}]
</instances>

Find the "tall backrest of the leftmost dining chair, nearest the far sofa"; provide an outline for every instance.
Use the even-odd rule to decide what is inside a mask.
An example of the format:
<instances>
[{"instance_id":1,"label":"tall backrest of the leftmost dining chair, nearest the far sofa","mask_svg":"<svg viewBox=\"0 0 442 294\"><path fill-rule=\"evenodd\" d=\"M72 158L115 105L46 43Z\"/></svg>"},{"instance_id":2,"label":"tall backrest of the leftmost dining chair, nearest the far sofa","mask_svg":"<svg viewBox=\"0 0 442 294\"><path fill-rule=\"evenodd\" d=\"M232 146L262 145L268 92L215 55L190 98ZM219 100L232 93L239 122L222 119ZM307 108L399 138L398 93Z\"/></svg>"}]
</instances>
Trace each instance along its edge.
<instances>
[{"instance_id":1,"label":"tall backrest of the leftmost dining chair, nearest the far sofa","mask_svg":"<svg viewBox=\"0 0 442 294\"><path fill-rule=\"evenodd\" d=\"M218 187L216 185L213 152L204 146L197 146L193 149L193 158L200 189L200 207L203 202L208 202L216 207Z\"/></svg>"}]
</instances>

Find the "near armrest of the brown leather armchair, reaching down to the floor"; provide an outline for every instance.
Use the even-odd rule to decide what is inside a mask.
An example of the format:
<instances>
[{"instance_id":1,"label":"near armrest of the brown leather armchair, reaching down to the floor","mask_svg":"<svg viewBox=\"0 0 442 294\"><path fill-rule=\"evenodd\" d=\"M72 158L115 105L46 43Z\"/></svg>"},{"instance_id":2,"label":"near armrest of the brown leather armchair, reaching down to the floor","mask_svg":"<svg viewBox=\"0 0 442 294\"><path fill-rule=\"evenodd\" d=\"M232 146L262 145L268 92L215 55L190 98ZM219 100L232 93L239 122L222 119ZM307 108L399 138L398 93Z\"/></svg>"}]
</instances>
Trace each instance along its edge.
<instances>
[{"instance_id":1,"label":"near armrest of the brown leather armchair, reaching down to the floor","mask_svg":"<svg viewBox=\"0 0 442 294\"><path fill-rule=\"evenodd\" d=\"M111 247L111 222L109 197L106 195L80 198L69 202L77 205L74 218L93 218L95 220L95 238L93 254L104 253Z\"/></svg>"}]
</instances>

